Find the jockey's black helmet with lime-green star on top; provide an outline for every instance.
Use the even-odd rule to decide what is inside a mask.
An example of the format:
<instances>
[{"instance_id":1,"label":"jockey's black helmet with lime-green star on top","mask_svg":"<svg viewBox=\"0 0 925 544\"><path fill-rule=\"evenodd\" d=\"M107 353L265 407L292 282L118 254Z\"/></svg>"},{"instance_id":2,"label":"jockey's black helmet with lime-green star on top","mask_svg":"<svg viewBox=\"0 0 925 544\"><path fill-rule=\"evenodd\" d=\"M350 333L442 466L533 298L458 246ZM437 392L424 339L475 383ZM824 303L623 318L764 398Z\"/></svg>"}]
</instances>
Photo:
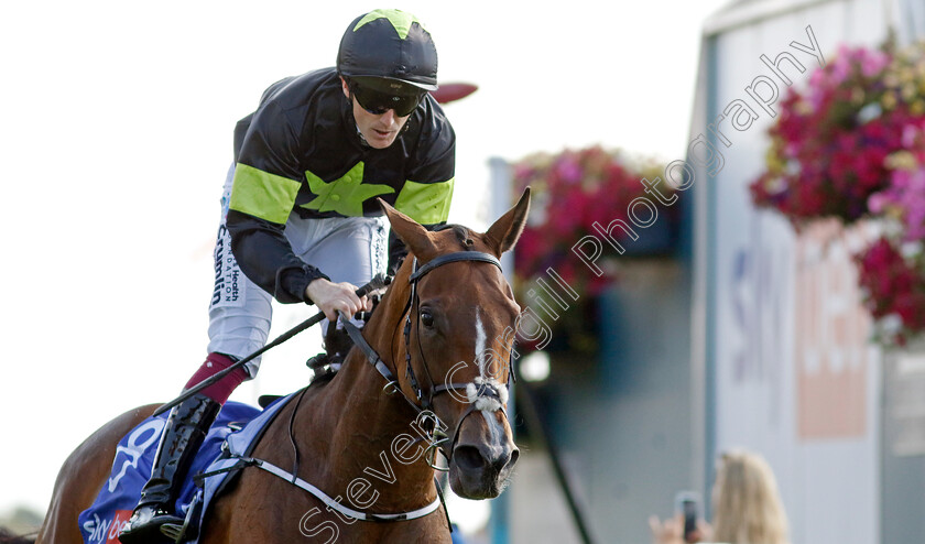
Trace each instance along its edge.
<instances>
[{"instance_id":1,"label":"jockey's black helmet with lime-green star on top","mask_svg":"<svg viewBox=\"0 0 925 544\"><path fill-rule=\"evenodd\" d=\"M395 95L436 90L437 48L431 33L411 13L370 11L355 19L344 33L337 72L347 79L379 80Z\"/></svg>"}]
</instances>

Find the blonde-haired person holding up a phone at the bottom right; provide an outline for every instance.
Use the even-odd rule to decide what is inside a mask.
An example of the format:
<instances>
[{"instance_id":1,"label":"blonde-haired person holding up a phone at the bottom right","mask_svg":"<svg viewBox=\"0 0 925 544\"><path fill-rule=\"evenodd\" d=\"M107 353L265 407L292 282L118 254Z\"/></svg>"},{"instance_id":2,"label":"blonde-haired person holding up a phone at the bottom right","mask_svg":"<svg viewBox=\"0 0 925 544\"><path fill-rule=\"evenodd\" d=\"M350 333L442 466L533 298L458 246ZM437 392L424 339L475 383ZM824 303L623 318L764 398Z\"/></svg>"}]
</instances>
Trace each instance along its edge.
<instances>
[{"instance_id":1,"label":"blonde-haired person holding up a phone at the bottom right","mask_svg":"<svg viewBox=\"0 0 925 544\"><path fill-rule=\"evenodd\" d=\"M755 453L720 456L712 489L714 526L698 524L689 542L790 544L787 516L771 467ZM682 520L649 520L654 544L684 544Z\"/></svg>"}]
</instances>

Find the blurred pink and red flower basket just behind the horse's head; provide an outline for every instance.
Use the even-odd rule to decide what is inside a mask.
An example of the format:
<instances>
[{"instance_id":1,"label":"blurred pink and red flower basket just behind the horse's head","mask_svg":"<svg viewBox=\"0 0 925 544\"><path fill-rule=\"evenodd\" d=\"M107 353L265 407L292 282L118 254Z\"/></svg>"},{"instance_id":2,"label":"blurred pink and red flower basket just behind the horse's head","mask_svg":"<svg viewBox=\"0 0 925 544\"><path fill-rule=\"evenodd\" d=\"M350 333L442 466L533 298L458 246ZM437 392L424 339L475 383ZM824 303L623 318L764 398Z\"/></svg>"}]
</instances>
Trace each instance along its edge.
<instances>
[{"instance_id":1,"label":"blurred pink and red flower basket just behind the horse's head","mask_svg":"<svg viewBox=\"0 0 925 544\"><path fill-rule=\"evenodd\" d=\"M618 258L666 254L676 247L679 206L654 198L642 182L643 178L654 181L663 172L664 164L600 146L558 154L538 153L514 164L515 194L531 186L533 195L527 225L514 252L518 298L537 312L541 312L537 298L556 309L557 317L548 313L545 317L558 333L553 342L557 349L596 350L594 302L618 278L619 266L614 265ZM674 196L667 183L661 182L659 188L665 200ZM611 229L609 235L620 244L621 253L606 240L601 229L614 220L631 225L628 205L636 198L646 198L656 209L657 219L651 226L639 228L636 239L619 228ZM598 239L602 251L595 261L602 272L600 275L574 251L576 243L588 236ZM547 285L555 285L551 274L578 296L577 301L567 298L567 311L537 284L538 280L545 280Z\"/></svg>"}]
</instances>

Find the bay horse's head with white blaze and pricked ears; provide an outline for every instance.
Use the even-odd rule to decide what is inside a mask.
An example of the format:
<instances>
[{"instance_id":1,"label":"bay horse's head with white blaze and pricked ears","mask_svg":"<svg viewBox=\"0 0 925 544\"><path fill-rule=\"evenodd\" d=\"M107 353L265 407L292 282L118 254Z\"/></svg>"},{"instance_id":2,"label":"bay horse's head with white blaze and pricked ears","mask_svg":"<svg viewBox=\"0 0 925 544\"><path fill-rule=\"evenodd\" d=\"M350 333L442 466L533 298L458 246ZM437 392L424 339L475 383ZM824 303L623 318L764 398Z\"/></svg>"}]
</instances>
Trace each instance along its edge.
<instances>
[{"instance_id":1,"label":"bay horse's head with white blaze and pricked ears","mask_svg":"<svg viewBox=\"0 0 925 544\"><path fill-rule=\"evenodd\" d=\"M485 233L428 231L383 208L410 252L390 287L407 291L403 340L393 346L400 387L436 414L454 492L494 498L519 456L505 407L520 306L498 259L523 231L530 189Z\"/></svg>"}]
</instances>

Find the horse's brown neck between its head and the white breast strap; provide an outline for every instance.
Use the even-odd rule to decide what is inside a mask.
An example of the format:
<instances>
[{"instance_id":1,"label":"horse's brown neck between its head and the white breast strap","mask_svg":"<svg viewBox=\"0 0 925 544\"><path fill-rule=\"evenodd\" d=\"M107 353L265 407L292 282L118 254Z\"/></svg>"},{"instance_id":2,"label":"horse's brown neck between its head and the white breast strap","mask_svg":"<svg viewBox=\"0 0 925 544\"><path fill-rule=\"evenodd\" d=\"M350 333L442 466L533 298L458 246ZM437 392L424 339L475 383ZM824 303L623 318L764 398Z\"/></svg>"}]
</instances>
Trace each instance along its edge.
<instances>
[{"instance_id":1,"label":"horse's brown neck between its head and the white breast strap","mask_svg":"<svg viewBox=\"0 0 925 544\"><path fill-rule=\"evenodd\" d=\"M363 329L370 347L396 378L396 366L391 358L393 353L396 358L404 357L401 327L409 295L407 274L400 274ZM323 478L330 480L327 483L330 489L347 489L353 479L366 478L380 485L376 489L381 498L372 507L373 511L416 509L425 500L435 499L434 470L421 459L407 463L406 456L426 447L421 446L420 440L404 450L404 459L396 454L396 446L398 449L409 447L410 439L420 438L415 422L417 412L400 392L387 393L385 384L385 379L369 363L366 355L359 348L351 349L337 377L324 390L326 400L320 403L325 406L322 417L306 414L302 421L313 422L313 425L327 422L323 424L327 428L322 429L330 437ZM306 446L313 440L312 435L318 436L317 433L317 426L302 433ZM392 478L394 481L384 483ZM428 490L427 497L420 494L421 489Z\"/></svg>"}]
</instances>

